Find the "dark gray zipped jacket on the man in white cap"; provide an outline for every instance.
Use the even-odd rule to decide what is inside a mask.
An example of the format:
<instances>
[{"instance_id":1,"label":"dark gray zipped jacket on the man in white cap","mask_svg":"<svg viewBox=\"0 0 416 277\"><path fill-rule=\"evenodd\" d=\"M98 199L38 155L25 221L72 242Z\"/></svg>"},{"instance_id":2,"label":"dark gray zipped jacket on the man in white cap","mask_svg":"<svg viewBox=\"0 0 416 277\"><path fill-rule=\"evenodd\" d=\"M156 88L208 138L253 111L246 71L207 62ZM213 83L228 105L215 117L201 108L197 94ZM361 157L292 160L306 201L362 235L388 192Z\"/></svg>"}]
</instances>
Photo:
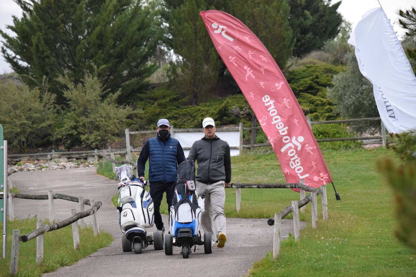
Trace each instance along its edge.
<instances>
[{"instance_id":1,"label":"dark gray zipped jacket on the man in white cap","mask_svg":"<svg viewBox=\"0 0 416 277\"><path fill-rule=\"evenodd\" d=\"M204 136L193 143L187 159L198 162L196 181L204 184L231 181L230 146L225 140Z\"/></svg>"}]
</instances>

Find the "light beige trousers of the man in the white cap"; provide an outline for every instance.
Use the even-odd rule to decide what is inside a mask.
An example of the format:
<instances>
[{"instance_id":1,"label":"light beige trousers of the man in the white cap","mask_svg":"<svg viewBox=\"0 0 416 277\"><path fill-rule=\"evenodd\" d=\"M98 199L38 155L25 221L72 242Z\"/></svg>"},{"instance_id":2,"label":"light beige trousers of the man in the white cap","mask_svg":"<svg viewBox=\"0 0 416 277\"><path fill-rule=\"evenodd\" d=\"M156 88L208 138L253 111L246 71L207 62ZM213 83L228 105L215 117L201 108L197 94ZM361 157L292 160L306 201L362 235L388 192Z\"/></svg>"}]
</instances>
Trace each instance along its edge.
<instances>
[{"instance_id":1,"label":"light beige trousers of the man in the white cap","mask_svg":"<svg viewBox=\"0 0 416 277\"><path fill-rule=\"evenodd\" d=\"M196 193L202 196L205 189L205 211L202 213L201 226L205 233L211 233L212 239L217 240L220 233L225 234L225 188L224 181L214 184L204 184L196 181Z\"/></svg>"}]
</instances>

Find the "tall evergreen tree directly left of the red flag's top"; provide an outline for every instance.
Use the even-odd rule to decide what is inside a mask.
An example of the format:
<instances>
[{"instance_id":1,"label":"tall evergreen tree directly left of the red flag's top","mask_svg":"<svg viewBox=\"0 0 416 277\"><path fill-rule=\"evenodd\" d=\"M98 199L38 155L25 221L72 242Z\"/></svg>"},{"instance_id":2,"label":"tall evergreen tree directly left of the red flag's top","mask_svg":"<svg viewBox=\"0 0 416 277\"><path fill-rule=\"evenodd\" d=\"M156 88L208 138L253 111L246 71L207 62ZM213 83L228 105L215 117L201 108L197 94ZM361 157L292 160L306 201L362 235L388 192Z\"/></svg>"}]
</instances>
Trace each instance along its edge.
<instances>
[{"instance_id":1,"label":"tall evergreen tree directly left of the red flag's top","mask_svg":"<svg viewBox=\"0 0 416 277\"><path fill-rule=\"evenodd\" d=\"M171 83L192 105L210 98L221 69L220 58L199 15L206 10L200 0L187 0L171 11L172 46L179 55L171 64Z\"/></svg>"}]
</instances>

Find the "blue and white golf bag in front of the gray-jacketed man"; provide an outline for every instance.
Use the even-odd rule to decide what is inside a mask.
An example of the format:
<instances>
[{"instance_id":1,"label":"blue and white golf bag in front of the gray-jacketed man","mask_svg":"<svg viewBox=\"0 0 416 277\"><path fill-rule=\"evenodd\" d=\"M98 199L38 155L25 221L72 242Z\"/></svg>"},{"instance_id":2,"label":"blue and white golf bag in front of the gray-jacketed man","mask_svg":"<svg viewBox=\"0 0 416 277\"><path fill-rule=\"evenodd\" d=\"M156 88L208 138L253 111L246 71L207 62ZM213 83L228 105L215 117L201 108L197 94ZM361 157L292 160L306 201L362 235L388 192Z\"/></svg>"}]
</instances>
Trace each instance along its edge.
<instances>
[{"instance_id":1,"label":"blue and white golf bag in front of the gray-jacketed man","mask_svg":"<svg viewBox=\"0 0 416 277\"><path fill-rule=\"evenodd\" d=\"M198 201L195 190L195 162L187 159L178 167L178 181L170 207L169 228L173 237L181 228L187 228L194 237L199 233L204 201L201 197Z\"/></svg>"}]
</instances>

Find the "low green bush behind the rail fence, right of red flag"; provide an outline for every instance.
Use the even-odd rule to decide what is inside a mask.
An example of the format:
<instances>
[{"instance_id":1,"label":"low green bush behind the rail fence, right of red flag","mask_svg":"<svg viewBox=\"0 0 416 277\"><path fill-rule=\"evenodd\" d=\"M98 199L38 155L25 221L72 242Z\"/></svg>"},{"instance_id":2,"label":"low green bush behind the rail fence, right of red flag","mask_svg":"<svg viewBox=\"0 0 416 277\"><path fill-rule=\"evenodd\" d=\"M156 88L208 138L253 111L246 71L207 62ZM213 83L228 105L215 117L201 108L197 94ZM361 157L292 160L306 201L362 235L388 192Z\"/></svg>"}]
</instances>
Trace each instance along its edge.
<instances>
[{"instance_id":1,"label":"low green bush behind the rail fence, right of red flag","mask_svg":"<svg viewBox=\"0 0 416 277\"><path fill-rule=\"evenodd\" d=\"M312 132L316 139L324 138L336 138L336 137L354 137L355 134L351 134L348 131L346 124L319 124L312 125ZM319 148L321 149L353 149L361 146L361 143L357 140L346 140L346 141L331 141L331 142L318 142Z\"/></svg>"}]
</instances>

